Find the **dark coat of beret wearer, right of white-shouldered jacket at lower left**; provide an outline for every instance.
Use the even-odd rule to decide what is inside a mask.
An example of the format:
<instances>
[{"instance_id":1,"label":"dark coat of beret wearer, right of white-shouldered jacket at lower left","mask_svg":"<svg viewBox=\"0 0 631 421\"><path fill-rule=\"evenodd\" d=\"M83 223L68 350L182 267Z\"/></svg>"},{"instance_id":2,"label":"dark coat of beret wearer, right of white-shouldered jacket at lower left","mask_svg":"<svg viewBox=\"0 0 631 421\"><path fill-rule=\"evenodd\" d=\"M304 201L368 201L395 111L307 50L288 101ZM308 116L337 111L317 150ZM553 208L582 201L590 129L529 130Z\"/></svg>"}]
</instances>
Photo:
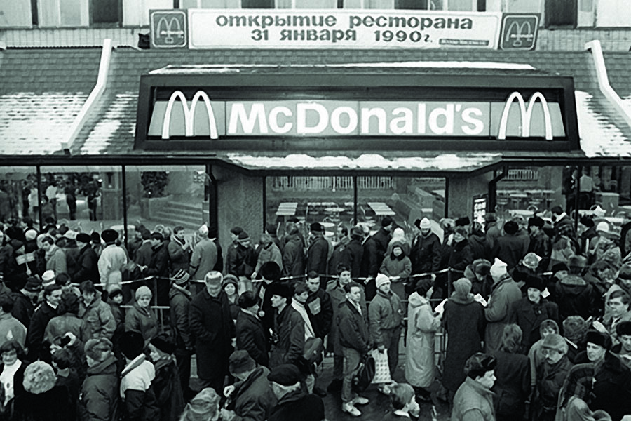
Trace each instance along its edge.
<instances>
[{"instance_id":1,"label":"dark coat of beret wearer, right of white-shouldered jacket at lower left","mask_svg":"<svg viewBox=\"0 0 631 421\"><path fill-rule=\"evenodd\" d=\"M184 394L182 385L179 384L179 372L173 360L158 361L156 366L156 378L151 382L151 388L156 394L156 402L160 408L160 421L177 420L182 415L184 406ZM152 420L156 421L156 420Z\"/></svg>"}]
</instances>

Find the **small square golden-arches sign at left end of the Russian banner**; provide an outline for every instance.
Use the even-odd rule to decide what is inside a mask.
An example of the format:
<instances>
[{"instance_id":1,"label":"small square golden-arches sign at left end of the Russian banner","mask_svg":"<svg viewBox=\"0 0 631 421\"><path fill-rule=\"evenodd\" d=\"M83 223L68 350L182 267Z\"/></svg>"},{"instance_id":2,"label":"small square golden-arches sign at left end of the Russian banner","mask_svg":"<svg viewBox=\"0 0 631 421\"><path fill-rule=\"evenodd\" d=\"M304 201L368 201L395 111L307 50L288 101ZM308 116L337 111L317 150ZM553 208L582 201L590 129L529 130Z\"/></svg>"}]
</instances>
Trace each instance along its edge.
<instances>
[{"instance_id":1,"label":"small square golden-arches sign at left end of the Russian banner","mask_svg":"<svg viewBox=\"0 0 631 421\"><path fill-rule=\"evenodd\" d=\"M186 11L150 11L151 48L186 48L189 43Z\"/></svg>"}]
</instances>

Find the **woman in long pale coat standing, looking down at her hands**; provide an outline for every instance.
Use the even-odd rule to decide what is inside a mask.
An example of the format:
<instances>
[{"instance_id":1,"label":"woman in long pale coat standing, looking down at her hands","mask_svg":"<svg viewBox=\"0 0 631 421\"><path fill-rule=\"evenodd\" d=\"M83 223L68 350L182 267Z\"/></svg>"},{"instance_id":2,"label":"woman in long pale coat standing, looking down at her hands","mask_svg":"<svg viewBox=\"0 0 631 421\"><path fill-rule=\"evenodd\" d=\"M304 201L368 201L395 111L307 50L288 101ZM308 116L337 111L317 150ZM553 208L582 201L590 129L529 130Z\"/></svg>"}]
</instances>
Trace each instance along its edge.
<instances>
[{"instance_id":1,"label":"woman in long pale coat standing, looking down at her hands","mask_svg":"<svg viewBox=\"0 0 631 421\"><path fill-rule=\"evenodd\" d=\"M440 328L440 314L435 316L429 302L433 293L432 279L421 279L416 290L408 298L407 352L405 355L405 379L419 399L430 400L427 388L435 377L434 335Z\"/></svg>"}]
</instances>

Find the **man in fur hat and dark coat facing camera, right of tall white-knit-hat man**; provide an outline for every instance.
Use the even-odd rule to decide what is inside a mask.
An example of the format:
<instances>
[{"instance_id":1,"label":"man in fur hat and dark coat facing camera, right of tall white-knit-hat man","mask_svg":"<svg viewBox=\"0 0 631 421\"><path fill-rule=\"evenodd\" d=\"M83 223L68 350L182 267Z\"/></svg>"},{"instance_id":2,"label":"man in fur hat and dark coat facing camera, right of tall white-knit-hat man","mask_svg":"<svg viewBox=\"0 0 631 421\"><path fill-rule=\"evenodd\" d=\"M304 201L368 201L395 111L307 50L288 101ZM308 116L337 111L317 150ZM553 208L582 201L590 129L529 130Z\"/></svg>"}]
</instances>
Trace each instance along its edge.
<instances>
[{"instance_id":1,"label":"man in fur hat and dark coat facing camera, right of tall white-knit-hat man","mask_svg":"<svg viewBox=\"0 0 631 421\"><path fill-rule=\"evenodd\" d=\"M559 321L559 306L549 302L541 296L545 285L539 276L529 276L526 279L526 297L515 301L508 310L508 323L516 323L522 329L522 353L528 354L530 347L541 339L539 327L541 322L552 319Z\"/></svg>"}]
</instances>

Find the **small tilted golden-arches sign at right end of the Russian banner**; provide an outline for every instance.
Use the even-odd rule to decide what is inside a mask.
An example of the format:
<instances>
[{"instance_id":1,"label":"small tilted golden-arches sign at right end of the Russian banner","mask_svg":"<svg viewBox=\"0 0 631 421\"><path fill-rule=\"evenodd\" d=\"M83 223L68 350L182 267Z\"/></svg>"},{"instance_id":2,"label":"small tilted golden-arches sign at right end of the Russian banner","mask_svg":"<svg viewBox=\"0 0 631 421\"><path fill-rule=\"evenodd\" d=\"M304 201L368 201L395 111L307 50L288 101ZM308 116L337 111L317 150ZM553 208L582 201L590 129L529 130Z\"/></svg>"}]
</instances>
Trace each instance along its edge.
<instances>
[{"instance_id":1,"label":"small tilted golden-arches sign at right end of the Russian banner","mask_svg":"<svg viewBox=\"0 0 631 421\"><path fill-rule=\"evenodd\" d=\"M534 50L539 29L538 14L505 14L502 18L501 50Z\"/></svg>"}]
</instances>

